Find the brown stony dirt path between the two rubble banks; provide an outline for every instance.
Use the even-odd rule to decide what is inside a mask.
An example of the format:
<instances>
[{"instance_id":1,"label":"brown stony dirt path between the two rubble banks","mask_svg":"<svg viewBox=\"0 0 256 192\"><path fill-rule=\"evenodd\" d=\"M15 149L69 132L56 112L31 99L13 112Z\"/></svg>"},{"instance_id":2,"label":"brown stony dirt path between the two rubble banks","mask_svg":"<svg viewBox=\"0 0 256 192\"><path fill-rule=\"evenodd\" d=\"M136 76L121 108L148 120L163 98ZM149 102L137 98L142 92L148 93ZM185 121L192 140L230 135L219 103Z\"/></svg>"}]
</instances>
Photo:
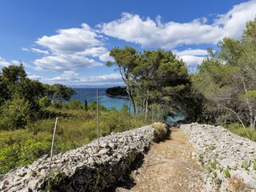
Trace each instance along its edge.
<instances>
[{"instance_id":1,"label":"brown stony dirt path between the two rubble banks","mask_svg":"<svg viewBox=\"0 0 256 192\"><path fill-rule=\"evenodd\" d=\"M139 192L201 191L202 168L191 158L194 148L180 129L173 129L170 140L150 148L142 166L131 173Z\"/></svg>"}]
</instances>

